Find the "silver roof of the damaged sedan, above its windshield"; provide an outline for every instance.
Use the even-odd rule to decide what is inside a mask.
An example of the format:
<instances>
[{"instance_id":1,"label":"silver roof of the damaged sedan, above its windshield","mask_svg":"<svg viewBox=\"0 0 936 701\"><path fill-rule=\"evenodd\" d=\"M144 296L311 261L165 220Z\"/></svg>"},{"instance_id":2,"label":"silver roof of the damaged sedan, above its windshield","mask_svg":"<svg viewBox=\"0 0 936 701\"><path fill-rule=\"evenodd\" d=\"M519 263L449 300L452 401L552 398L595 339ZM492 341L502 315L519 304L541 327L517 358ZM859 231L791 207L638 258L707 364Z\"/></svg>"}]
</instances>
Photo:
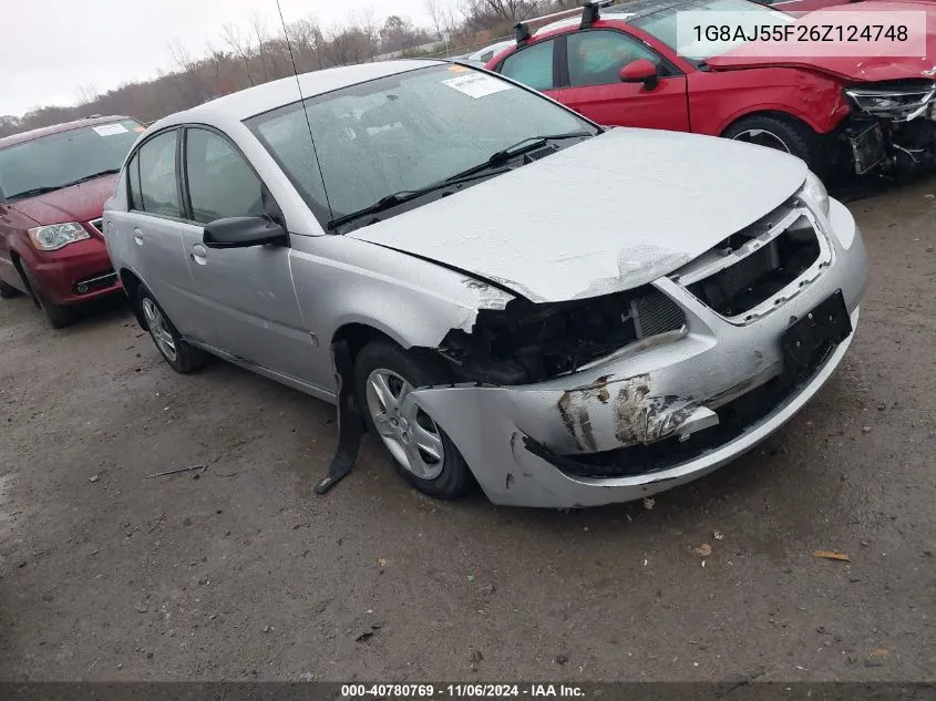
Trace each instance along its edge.
<instances>
[{"instance_id":1,"label":"silver roof of the damaged sedan, above its windshield","mask_svg":"<svg viewBox=\"0 0 936 701\"><path fill-rule=\"evenodd\" d=\"M444 64L445 61L434 60L377 61L325 69L323 71L302 73L298 76L289 75L212 100L184 112L171 114L153 124L147 131L152 132L163 126L187 122L240 122L247 117L298 102L297 81L301 87L302 97L308 99L388 75Z\"/></svg>"}]
</instances>

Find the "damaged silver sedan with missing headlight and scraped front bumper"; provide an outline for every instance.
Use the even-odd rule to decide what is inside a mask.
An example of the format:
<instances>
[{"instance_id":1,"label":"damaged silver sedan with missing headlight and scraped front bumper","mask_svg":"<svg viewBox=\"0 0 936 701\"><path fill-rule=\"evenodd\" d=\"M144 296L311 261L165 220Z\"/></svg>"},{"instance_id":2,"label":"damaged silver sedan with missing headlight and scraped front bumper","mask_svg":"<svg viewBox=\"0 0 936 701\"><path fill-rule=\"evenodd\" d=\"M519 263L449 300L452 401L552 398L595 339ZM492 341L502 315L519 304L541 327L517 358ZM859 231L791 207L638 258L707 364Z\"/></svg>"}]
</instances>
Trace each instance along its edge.
<instances>
[{"instance_id":1,"label":"damaged silver sedan with missing headlight and scraped front bumper","mask_svg":"<svg viewBox=\"0 0 936 701\"><path fill-rule=\"evenodd\" d=\"M213 354L338 404L319 492L366 427L425 494L544 507L647 496L776 431L841 363L867 266L792 156L604 130L439 61L161 120L104 228L175 370Z\"/></svg>"}]
</instances>

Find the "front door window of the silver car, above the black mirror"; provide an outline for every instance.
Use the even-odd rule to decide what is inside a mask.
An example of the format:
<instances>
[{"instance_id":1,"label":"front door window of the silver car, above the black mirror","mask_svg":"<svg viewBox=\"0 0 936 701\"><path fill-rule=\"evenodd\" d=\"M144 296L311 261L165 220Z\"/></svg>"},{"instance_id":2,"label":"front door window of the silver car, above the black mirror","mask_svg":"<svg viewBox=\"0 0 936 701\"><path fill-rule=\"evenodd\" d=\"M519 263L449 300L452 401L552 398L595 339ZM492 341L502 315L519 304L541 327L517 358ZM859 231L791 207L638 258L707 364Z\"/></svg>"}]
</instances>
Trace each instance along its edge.
<instances>
[{"instance_id":1,"label":"front door window of the silver car, above the black mirror","mask_svg":"<svg viewBox=\"0 0 936 701\"><path fill-rule=\"evenodd\" d=\"M204 128L187 130L185 168L196 221L264 214L260 178L223 136Z\"/></svg>"}]
</instances>

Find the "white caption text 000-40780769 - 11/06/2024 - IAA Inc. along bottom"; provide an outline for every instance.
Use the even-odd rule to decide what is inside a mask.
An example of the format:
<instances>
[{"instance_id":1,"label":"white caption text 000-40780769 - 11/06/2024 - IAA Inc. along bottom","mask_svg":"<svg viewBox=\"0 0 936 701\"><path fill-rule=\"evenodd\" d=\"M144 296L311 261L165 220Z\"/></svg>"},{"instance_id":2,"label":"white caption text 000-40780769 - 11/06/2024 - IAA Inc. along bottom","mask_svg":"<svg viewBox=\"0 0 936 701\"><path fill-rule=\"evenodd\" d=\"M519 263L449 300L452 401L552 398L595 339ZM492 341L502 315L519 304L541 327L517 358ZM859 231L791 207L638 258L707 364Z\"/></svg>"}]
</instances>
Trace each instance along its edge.
<instances>
[{"instance_id":1,"label":"white caption text 000-40780769 - 11/06/2024 - IAA Inc. along bottom","mask_svg":"<svg viewBox=\"0 0 936 701\"><path fill-rule=\"evenodd\" d=\"M431 699L434 697L492 698L582 698L580 687L570 684L342 684L344 699Z\"/></svg>"}]
</instances>

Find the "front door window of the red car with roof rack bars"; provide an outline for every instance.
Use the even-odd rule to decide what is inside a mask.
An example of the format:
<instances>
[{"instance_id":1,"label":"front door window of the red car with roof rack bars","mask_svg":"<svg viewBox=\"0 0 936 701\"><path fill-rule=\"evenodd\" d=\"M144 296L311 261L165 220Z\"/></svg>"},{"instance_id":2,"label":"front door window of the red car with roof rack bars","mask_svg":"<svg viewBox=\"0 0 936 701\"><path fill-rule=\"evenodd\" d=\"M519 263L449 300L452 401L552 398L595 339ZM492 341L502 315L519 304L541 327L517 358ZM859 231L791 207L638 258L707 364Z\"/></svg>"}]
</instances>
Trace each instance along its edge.
<instances>
[{"instance_id":1,"label":"front door window of the red car with roof rack bars","mask_svg":"<svg viewBox=\"0 0 936 701\"><path fill-rule=\"evenodd\" d=\"M660 56L632 37L620 32L594 30L568 37L569 85L607 85L620 82L620 69L647 59L658 68Z\"/></svg>"}]
</instances>

